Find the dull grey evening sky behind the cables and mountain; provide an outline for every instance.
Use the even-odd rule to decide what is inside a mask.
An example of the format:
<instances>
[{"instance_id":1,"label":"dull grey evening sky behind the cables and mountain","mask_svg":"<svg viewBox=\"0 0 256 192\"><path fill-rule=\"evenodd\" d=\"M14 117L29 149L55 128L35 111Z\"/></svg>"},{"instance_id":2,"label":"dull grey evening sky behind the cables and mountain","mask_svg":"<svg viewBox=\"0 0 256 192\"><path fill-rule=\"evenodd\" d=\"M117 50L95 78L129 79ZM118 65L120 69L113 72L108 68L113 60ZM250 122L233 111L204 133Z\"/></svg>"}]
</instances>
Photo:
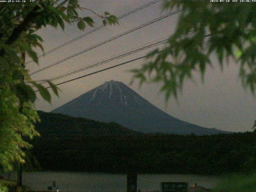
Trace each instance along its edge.
<instances>
[{"instance_id":1,"label":"dull grey evening sky behind the cables and mountain","mask_svg":"<svg viewBox=\"0 0 256 192\"><path fill-rule=\"evenodd\" d=\"M121 16L122 14L134 10L148 2L150 2L150 0L87 0L86 2L80 1L80 4L95 10L99 14L104 14L104 11L107 10L111 14ZM71 54L75 54L90 46L107 40L112 36L126 32L136 26L140 26L163 14L166 14L166 12L161 12L161 2L158 2L140 12L121 19L119 21L119 26L106 26L64 48L40 58L39 66L34 63L28 64L28 69L30 69L30 72L38 70L61 60L62 58L70 56ZM96 27L102 24L101 20L90 12L83 12L81 15L92 16L96 21ZM104 60L116 54L160 40L161 38L166 38L174 31L177 18L178 14L175 14L169 18L158 21L150 26L146 26L140 30L104 44L103 46L41 71L33 75L32 78L35 80L49 79L70 70L88 66L94 62ZM89 26L86 26L85 31L82 32L78 30L76 25L66 25L65 32L60 28L54 29L48 27L40 30L38 34L44 39L43 46L45 51L48 51L90 30L92 30L92 28ZM54 83L63 82L64 80L89 74L96 70L144 56L149 51L150 50L145 50L104 64L100 67L79 72L72 76L54 81ZM42 52L38 50L38 54L41 53ZM29 58L27 60L29 60ZM59 88L62 90L60 98L53 96L52 104L48 104L39 96L36 101L36 109L50 112L58 106L65 104L109 80L121 81L128 85L132 78L132 74L127 71L134 68L140 68L144 62L145 60L138 60L60 85ZM183 92L179 95L178 101L171 98L167 105L164 100L164 94L159 92L161 84L144 84L139 88L137 81L130 85L130 88L138 92L138 94L158 108L181 120L207 128L218 128L235 132L251 131L253 122L256 119L256 98L252 96L249 90L246 91L242 88L240 79L238 78L238 69L239 67L230 60L229 65L225 66L224 71L221 72L218 62L213 56L213 68L207 68L204 83L202 84L199 74L194 74L194 82L185 82Z\"/></svg>"}]
</instances>

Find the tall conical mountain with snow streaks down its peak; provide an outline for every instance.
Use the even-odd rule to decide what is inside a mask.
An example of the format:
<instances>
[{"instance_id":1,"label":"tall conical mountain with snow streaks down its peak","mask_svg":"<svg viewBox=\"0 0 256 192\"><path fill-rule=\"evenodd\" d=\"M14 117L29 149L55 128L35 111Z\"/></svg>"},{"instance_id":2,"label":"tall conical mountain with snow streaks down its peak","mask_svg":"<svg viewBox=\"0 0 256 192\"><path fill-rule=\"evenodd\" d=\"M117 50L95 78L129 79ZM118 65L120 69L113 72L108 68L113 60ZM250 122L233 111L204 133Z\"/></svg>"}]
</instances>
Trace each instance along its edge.
<instances>
[{"instance_id":1,"label":"tall conical mountain with snow streaks down its peak","mask_svg":"<svg viewBox=\"0 0 256 192\"><path fill-rule=\"evenodd\" d=\"M80 95L52 112L101 122L116 122L144 133L197 135L226 133L174 118L122 82L113 80Z\"/></svg>"}]
</instances>

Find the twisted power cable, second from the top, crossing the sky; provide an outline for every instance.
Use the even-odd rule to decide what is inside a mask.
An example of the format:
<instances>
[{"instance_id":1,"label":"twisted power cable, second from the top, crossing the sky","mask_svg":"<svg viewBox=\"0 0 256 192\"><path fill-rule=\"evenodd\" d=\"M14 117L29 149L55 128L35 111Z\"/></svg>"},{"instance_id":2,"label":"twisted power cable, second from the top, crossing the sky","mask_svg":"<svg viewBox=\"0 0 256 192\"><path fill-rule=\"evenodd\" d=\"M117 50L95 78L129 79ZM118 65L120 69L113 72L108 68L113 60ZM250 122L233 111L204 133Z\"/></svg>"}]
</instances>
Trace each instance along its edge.
<instances>
[{"instance_id":1,"label":"twisted power cable, second from the top, crossing the sky","mask_svg":"<svg viewBox=\"0 0 256 192\"><path fill-rule=\"evenodd\" d=\"M145 24L142 24L142 25L140 25L140 26L138 26L138 27L135 27L135 28L133 28L133 29L131 29L131 30L128 30L128 31L126 31L126 32L123 32L123 33L121 33L121 34L119 34L119 35L117 35L117 36L114 36L114 37L112 37L112 38L110 38L110 39L108 39L108 40L105 40L104 42L101 42L101 43L99 43L99 44L96 44L96 45L94 45L94 46L91 46L91 47L89 47L89 48L87 48L87 49L85 49L85 50L82 50L82 51L80 51L80 52L78 52L78 53L76 53L76 54L73 54L73 55L71 55L71 56L68 56L68 57L66 57L66 58L64 58L64 59L62 59L62 60L60 60L60 61L57 61L57 62L55 62L55 63L53 63L53 64L50 64L50 65L48 65L48 66L46 66L46 67L44 67L44 68L41 68L41 69L39 69L39 70L36 70L36 71L30 73L29 75L36 74L36 73L38 73L38 72L40 72L40 71L42 71L42 70L45 70L45 69L47 69L47 68L50 68L50 67L55 66L55 65L57 65L57 64L60 64L60 63L66 61L66 60L68 60L68 59L70 59L70 58L73 58L73 57L75 57L75 56L78 56L78 55L80 55L80 54L82 54L82 53L84 53L84 52L87 52L87 51L89 51L89 50L92 50L92 49L94 49L94 48L96 48L96 47L98 47L98 46L101 46L101 45L103 45L103 44L106 44L106 43L108 43L108 42L110 42L110 41L112 41L112 40L115 40L115 39L117 39L117 38L120 38L120 37L122 37L122 36L124 36L124 35L126 35L126 34L129 34L129 33L131 33L131 32L134 32L134 31L136 31L136 30L138 30L138 29L140 29L140 28L143 28L143 27L145 27L145 26L148 26L148 25L150 25L150 24L152 24L152 23L155 23L155 22L157 22L157 21L160 21L160 20L162 20L162 19L164 19L164 18L167 18L167 17L169 17L169 16L172 16L172 15L178 13L178 12L181 12L181 11L182 11L182 9L178 9L178 10L176 10L176 11L174 11L174 12L170 12L170 13L168 13L168 14L165 14L165 15L163 15L163 16L160 16L160 17L158 17L158 18L156 18L156 19L154 19L154 20L152 20L152 21L146 22Z\"/></svg>"}]
</instances>

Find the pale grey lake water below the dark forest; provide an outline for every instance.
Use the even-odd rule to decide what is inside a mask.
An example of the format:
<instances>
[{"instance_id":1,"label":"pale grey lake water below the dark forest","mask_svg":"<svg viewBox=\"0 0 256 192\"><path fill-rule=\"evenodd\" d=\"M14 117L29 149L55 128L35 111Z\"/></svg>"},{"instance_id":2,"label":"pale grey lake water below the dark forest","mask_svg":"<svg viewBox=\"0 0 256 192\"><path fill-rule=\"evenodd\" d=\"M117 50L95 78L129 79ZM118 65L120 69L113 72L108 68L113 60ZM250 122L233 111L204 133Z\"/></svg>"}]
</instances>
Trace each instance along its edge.
<instances>
[{"instance_id":1,"label":"pale grey lake water below the dark forest","mask_svg":"<svg viewBox=\"0 0 256 192\"><path fill-rule=\"evenodd\" d=\"M23 184L30 190L47 190L56 181L60 192L126 192L126 174L77 173L77 172L26 172ZM138 174L137 189L142 192L159 190L160 182L197 183L213 188L220 178L188 174Z\"/></svg>"}]
</instances>

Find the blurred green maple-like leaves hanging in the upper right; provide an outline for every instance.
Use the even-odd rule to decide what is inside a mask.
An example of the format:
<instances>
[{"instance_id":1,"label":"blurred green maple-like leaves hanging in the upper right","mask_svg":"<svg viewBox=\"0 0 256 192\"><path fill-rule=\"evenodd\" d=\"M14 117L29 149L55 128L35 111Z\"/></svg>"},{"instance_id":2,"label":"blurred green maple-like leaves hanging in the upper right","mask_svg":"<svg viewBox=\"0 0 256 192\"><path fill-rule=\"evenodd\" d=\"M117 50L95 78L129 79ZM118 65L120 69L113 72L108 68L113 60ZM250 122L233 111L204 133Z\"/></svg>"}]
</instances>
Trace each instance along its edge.
<instances>
[{"instance_id":1,"label":"blurred green maple-like leaves hanging in the upper right","mask_svg":"<svg viewBox=\"0 0 256 192\"><path fill-rule=\"evenodd\" d=\"M163 49L148 54L148 62L133 70L134 78L163 82L166 99L177 97L184 80L199 72L203 78L210 56L216 54L220 67L233 58L240 65L245 88L256 87L256 4L212 3L205 0L164 0L163 9L182 8L176 30ZM190 33L193 31L193 33ZM189 35L186 35L190 33Z\"/></svg>"}]
</instances>

